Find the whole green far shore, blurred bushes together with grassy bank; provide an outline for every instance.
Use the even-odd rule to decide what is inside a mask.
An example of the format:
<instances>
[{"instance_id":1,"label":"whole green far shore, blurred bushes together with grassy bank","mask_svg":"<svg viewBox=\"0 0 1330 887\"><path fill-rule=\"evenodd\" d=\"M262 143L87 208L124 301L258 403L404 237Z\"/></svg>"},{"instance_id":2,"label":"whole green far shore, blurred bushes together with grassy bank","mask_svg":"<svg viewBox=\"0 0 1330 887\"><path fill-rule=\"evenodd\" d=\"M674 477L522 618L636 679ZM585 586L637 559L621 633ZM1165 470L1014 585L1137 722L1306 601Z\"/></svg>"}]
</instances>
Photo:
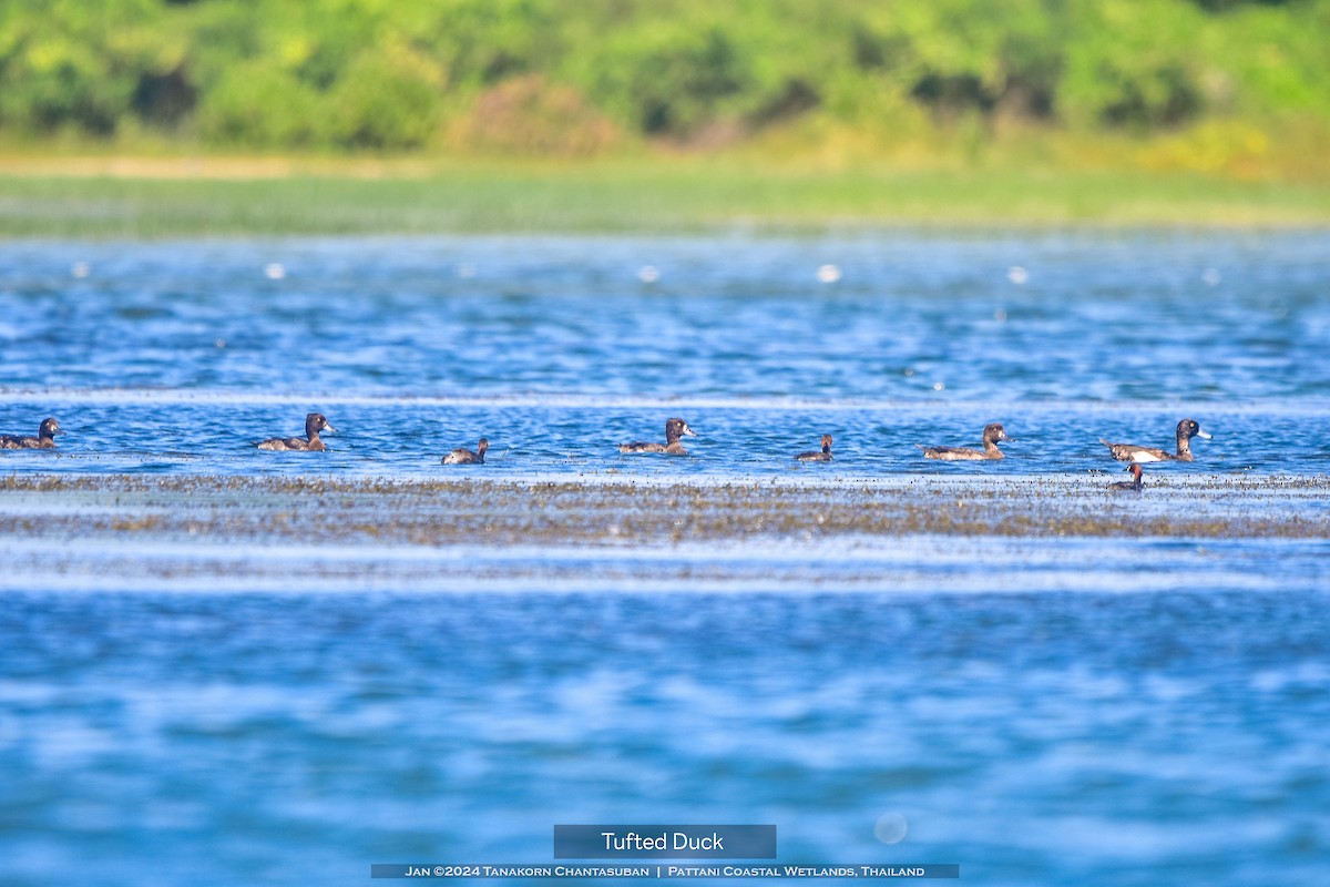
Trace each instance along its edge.
<instances>
[{"instance_id":1,"label":"whole green far shore, blurred bushes together with grassy bank","mask_svg":"<svg viewBox=\"0 0 1330 887\"><path fill-rule=\"evenodd\" d=\"M0 0L0 237L1330 225L1330 0Z\"/></svg>"}]
</instances>

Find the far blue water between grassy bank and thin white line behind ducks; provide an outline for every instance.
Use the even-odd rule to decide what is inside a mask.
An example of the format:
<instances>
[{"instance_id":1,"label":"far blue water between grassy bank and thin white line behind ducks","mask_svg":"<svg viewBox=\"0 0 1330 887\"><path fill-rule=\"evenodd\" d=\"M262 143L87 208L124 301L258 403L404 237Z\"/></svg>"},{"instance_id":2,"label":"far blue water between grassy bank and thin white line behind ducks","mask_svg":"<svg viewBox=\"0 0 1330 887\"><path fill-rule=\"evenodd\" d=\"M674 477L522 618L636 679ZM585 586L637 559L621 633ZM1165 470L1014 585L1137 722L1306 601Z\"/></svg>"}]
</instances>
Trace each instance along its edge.
<instances>
[{"instance_id":1,"label":"far blue water between grassy bank and thin white line behind ducks","mask_svg":"<svg viewBox=\"0 0 1330 887\"><path fill-rule=\"evenodd\" d=\"M408 398L1323 400L1327 254L1321 231L4 245L0 378Z\"/></svg>"}]
</instances>

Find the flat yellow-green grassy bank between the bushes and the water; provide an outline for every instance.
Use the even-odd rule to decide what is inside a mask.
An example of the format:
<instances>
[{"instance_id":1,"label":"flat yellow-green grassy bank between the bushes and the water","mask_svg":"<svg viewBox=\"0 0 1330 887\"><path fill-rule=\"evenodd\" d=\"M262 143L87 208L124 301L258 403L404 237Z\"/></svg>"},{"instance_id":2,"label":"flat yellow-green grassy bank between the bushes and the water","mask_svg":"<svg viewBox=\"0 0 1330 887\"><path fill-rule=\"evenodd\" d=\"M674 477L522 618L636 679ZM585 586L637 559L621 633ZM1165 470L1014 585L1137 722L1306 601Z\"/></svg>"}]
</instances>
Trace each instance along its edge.
<instances>
[{"instance_id":1,"label":"flat yellow-green grassy bank between the bushes and the water","mask_svg":"<svg viewBox=\"0 0 1330 887\"><path fill-rule=\"evenodd\" d=\"M771 170L734 160L0 162L3 238L1012 225L1323 226L1330 185L1148 172Z\"/></svg>"}]
</instances>

